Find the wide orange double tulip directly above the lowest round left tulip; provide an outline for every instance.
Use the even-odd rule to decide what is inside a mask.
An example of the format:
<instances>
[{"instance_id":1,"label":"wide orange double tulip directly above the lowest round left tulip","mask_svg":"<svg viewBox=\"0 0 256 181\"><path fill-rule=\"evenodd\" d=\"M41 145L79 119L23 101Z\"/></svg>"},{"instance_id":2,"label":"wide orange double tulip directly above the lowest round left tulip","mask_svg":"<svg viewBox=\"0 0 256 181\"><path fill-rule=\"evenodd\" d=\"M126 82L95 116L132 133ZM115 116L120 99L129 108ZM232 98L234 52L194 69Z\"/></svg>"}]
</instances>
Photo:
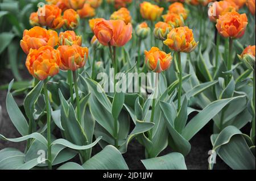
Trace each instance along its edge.
<instances>
[{"instance_id":1,"label":"wide orange double tulip directly above the lowest round left tulip","mask_svg":"<svg viewBox=\"0 0 256 181\"><path fill-rule=\"evenodd\" d=\"M24 30L23 38L20 40L20 47L24 53L28 54L30 49L39 49L45 45L55 47L58 42L59 37L56 31L34 27L30 30Z\"/></svg>"}]
</instances>

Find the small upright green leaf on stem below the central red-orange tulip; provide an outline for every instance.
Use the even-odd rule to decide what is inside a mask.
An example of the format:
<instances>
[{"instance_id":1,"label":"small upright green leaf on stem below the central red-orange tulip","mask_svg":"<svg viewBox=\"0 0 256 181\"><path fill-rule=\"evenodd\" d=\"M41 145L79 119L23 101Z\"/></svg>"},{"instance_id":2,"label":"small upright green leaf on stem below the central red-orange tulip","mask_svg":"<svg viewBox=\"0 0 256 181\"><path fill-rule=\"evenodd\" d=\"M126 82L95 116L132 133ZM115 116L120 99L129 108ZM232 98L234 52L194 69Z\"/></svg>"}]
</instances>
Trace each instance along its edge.
<instances>
[{"instance_id":1,"label":"small upright green leaf on stem below the central red-orange tulip","mask_svg":"<svg viewBox=\"0 0 256 181\"><path fill-rule=\"evenodd\" d=\"M125 94L123 92L115 92L113 104L112 104L112 115L114 119L118 119L118 116L123 108L125 102Z\"/></svg>"}]
</instances>

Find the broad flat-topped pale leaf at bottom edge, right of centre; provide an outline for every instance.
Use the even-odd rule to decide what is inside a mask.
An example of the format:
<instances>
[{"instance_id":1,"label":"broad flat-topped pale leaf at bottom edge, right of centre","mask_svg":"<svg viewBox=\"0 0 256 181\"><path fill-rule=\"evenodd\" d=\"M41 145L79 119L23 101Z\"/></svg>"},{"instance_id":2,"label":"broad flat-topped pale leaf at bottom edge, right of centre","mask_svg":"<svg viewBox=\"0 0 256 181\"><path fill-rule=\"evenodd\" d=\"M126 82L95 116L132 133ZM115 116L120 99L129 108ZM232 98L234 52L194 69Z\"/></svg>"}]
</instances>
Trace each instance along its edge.
<instances>
[{"instance_id":1,"label":"broad flat-topped pale leaf at bottom edge, right of centre","mask_svg":"<svg viewBox=\"0 0 256 181\"><path fill-rule=\"evenodd\" d=\"M180 153L170 153L162 157L143 159L147 170L187 170L185 159Z\"/></svg>"}]
</instances>

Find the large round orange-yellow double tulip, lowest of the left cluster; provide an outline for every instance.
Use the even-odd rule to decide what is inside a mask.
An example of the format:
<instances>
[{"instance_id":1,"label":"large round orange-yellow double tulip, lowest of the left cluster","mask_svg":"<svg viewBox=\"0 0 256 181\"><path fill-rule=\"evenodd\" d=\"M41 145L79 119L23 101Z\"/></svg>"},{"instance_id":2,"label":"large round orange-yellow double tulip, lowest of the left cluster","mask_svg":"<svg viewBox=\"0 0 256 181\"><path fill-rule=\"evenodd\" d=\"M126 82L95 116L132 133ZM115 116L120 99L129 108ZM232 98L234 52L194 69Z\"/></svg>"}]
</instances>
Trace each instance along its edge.
<instances>
[{"instance_id":1,"label":"large round orange-yellow double tulip, lowest of the left cluster","mask_svg":"<svg viewBox=\"0 0 256 181\"><path fill-rule=\"evenodd\" d=\"M33 77L43 81L48 76L59 73L60 52L50 46L30 49L26 60L26 67Z\"/></svg>"}]
</instances>

